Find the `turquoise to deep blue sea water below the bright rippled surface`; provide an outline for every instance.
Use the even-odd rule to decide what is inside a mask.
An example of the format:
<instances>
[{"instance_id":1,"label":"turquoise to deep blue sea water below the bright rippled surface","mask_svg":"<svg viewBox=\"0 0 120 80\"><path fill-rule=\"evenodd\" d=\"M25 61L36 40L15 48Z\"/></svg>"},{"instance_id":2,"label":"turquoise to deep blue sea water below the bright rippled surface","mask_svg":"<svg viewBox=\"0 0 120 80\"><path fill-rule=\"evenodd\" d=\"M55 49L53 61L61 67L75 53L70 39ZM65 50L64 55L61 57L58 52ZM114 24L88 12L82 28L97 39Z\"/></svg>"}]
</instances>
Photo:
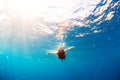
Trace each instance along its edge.
<instances>
[{"instance_id":1,"label":"turquoise to deep blue sea water below the bright rippled surface","mask_svg":"<svg viewBox=\"0 0 120 80\"><path fill-rule=\"evenodd\" d=\"M120 80L120 7L113 11L111 20L91 24L104 30L100 33L76 38L72 35L90 30L74 27L67 32L64 42L75 48L65 60L46 55L59 42L53 36L35 42L1 40L0 80Z\"/></svg>"}]
</instances>

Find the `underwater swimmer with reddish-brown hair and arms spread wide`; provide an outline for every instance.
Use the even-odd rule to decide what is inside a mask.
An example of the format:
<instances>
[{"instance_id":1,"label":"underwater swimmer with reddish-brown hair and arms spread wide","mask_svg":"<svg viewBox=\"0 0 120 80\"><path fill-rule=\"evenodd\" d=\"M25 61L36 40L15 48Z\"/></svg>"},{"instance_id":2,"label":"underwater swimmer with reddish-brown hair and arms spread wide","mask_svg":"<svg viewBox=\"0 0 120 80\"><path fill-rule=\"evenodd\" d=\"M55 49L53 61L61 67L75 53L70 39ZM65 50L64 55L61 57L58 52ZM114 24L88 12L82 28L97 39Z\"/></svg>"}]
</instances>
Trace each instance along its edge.
<instances>
[{"instance_id":1,"label":"underwater swimmer with reddish-brown hair and arms spread wide","mask_svg":"<svg viewBox=\"0 0 120 80\"><path fill-rule=\"evenodd\" d=\"M64 49L62 46L59 46L57 51L55 52L49 52L47 54L55 54L59 59L65 59L66 57L66 52L74 48L74 46L69 47L67 49Z\"/></svg>"}]
</instances>

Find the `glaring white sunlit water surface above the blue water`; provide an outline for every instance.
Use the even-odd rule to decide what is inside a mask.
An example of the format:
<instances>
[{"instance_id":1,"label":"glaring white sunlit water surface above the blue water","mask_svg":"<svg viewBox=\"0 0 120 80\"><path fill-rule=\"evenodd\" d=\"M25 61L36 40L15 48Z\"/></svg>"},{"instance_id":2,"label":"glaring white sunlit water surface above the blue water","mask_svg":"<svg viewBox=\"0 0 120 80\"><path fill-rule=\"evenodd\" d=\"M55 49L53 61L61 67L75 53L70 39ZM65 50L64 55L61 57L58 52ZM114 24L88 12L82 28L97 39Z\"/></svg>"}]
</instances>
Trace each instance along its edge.
<instances>
[{"instance_id":1,"label":"glaring white sunlit water surface above the blue water","mask_svg":"<svg viewBox=\"0 0 120 80\"><path fill-rule=\"evenodd\" d=\"M102 22L104 11L112 0L103 0L101 4L105 4L96 8L100 2L101 0L0 0L0 36L6 38L15 35L17 40L56 34L63 38L65 30L73 26L86 27L90 23ZM111 8L118 4L119 1ZM98 17L93 21L86 19L91 14ZM108 15L105 20L111 19L111 16L113 17Z\"/></svg>"}]
</instances>

